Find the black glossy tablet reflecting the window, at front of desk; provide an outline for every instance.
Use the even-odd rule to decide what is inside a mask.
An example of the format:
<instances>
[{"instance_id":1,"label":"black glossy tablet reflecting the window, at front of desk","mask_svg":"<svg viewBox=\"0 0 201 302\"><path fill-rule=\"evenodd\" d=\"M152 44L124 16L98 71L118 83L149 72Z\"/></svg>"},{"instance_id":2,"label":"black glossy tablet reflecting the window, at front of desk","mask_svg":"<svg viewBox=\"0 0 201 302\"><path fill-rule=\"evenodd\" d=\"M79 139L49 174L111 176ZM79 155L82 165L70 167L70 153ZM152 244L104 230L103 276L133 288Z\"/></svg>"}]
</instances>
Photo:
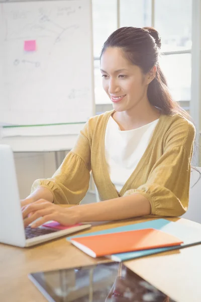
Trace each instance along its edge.
<instances>
[{"instance_id":1,"label":"black glossy tablet reflecting the window, at front of desk","mask_svg":"<svg viewBox=\"0 0 201 302\"><path fill-rule=\"evenodd\" d=\"M49 302L173 302L119 262L36 272L29 278Z\"/></svg>"}]
</instances>

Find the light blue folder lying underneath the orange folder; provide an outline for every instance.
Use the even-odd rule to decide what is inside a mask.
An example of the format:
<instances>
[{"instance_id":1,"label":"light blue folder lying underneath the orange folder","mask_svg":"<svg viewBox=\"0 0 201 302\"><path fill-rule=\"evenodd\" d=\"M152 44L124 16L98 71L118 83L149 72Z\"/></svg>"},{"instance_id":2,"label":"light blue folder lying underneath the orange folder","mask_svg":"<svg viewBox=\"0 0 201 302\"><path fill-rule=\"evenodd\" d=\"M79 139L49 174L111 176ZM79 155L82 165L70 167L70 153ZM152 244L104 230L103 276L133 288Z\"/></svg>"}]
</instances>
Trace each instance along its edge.
<instances>
[{"instance_id":1,"label":"light blue folder lying underneath the orange folder","mask_svg":"<svg viewBox=\"0 0 201 302\"><path fill-rule=\"evenodd\" d=\"M70 241L72 238L102 235L102 234L112 234L112 233L134 231L134 230L143 230L143 229L148 229L148 228L153 228L153 229L168 233L170 235L173 235L173 236L181 239L183 241L183 243L181 245L173 246L173 247L114 254L114 255L111 255L108 257L114 261L126 261L126 260L130 260L130 259L147 256L147 255L153 255L153 254L162 253L162 252L166 252L166 251L177 250L177 249L181 249L184 247L188 247L188 246L192 246L192 245L201 243L201 231L199 229L192 228L190 226L186 226L179 222L172 222L172 221L169 221L169 220L166 220L163 218L150 220L150 221L146 221L146 222L141 222L141 223L119 226L118 228L93 232L93 233L84 234L84 235L71 236L71 237L67 237L66 239L67 239L67 241Z\"/></svg>"}]
</instances>

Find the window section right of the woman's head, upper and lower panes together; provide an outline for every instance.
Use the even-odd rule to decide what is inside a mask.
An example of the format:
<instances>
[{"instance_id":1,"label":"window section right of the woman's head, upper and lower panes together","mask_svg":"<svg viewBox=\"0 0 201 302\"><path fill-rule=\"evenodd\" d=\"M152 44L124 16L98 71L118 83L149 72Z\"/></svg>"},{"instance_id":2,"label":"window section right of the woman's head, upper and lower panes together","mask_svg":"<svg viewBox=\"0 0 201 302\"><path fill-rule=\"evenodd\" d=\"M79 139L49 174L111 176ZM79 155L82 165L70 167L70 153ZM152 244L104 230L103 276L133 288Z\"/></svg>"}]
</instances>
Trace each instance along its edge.
<instances>
[{"instance_id":1,"label":"window section right of the woman's head, upper and lower panes together","mask_svg":"<svg viewBox=\"0 0 201 302\"><path fill-rule=\"evenodd\" d=\"M172 97L189 101L192 0L155 0L154 26L161 35L161 68Z\"/></svg>"}]
</instances>

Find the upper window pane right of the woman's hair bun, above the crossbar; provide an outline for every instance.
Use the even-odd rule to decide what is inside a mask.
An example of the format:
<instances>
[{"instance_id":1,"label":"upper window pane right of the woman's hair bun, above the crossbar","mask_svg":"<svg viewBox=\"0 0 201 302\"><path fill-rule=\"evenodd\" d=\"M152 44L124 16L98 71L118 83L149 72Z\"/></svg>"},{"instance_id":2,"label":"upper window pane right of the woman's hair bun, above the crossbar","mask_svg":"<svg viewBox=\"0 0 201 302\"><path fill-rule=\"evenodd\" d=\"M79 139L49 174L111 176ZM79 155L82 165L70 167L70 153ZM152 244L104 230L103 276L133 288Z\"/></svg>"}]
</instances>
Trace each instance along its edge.
<instances>
[{"instance_id":1,"label":"upper window pane right of the woman's hair bun, above the crossbar","mask_svg":"<svg viewBox=\"0 0 201 302\"><path fill-rule=\"evenodd\" d=\"M154 27L161 35L161 51L191 49L191 13L192 0L155 0Z\"/></svg>"}]
</instances>

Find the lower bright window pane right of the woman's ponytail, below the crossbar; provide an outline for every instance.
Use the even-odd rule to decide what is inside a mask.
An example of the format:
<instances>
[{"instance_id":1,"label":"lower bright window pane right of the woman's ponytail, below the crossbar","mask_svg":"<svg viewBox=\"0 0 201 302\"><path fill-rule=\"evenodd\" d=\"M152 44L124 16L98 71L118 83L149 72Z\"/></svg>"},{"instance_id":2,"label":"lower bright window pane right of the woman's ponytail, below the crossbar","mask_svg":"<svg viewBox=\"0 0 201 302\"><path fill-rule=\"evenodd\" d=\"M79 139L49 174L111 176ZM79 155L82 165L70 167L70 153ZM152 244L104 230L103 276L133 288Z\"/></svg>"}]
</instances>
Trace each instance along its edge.
<instances>
[{"instance_id":1,"label":"lower bright window pane right of the woman's ponytail, below the crossbar","mask_svg":"<svg viewBox=\"0 0 201 302\"><path fill-rule=\"evenodd\" d=\"M191 98L191 54L169 54L159 58L159 64L167 79L170 93L175 101Z\"/></svg>"}]
</instances>

